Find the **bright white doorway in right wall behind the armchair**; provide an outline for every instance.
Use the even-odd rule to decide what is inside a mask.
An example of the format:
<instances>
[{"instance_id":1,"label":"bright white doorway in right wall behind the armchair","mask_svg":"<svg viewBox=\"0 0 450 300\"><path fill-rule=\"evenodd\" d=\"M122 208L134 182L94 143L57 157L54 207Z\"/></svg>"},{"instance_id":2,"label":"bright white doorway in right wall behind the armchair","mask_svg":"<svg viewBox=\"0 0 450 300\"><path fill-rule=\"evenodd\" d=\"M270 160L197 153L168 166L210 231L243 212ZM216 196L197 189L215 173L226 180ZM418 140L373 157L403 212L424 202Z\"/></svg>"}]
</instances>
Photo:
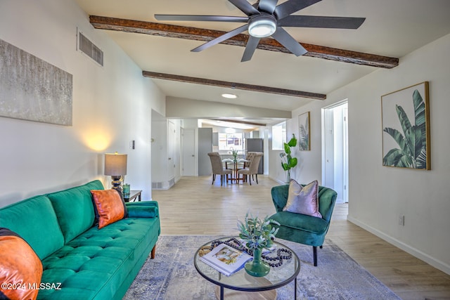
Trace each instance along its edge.
<instances>
[{"instance_id":1,"label":"bright white doorway in right wall behind the armchair","mask_svg":"<svg viewBox=\"0 0 450 300\"><path fill-rule=\"evenodd\" d=\"M322 110L323 185L338 193L338 203L349 202L348 102L336 103Z\"/></svg>"}]
</instances>

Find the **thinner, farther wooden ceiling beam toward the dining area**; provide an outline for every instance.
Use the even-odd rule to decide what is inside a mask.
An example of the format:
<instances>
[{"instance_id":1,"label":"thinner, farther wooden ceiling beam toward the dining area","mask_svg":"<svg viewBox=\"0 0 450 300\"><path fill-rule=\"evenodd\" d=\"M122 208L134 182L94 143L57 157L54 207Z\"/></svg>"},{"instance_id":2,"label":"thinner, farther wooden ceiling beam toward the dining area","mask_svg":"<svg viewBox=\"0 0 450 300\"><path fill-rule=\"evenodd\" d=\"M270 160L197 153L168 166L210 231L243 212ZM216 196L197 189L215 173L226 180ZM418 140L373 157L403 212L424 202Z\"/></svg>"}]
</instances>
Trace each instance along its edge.
<instances>
[{"instance_id":1,"label":"thinner, farther wooden ceiling beam toward the dining area","mask_svg":"<svg viewBox=\"0 0 450 300\"><path fill-rule=\"evenodd\" d=\"M203 85L207 85L207 86L220 86L220 87L230 88L230 89L240 89L240 90L245 90L245 91L257 91L259 93L274 93L274 94L283 95L283 96L310 98L310 99L315 99L315 100L325 100L326 99L326 95L323 93L309 93L307 91L294 91L294 90L290 90L290 89L278 89L278 88L274 88L274 87L270 87L270 86L255 86L253 84L240 84L237 82L221 81L221 80L214 80L214 79L204 79L204 78L198 78L198 77L188 77L188 76L165 74L165 73L158 73L158 72L149 72L149 71L143 71L142 74L144 77L172 80L172 81L180 81L180 82L186 82L189 84L203 84Z\"/></svg>"}]
</instances>

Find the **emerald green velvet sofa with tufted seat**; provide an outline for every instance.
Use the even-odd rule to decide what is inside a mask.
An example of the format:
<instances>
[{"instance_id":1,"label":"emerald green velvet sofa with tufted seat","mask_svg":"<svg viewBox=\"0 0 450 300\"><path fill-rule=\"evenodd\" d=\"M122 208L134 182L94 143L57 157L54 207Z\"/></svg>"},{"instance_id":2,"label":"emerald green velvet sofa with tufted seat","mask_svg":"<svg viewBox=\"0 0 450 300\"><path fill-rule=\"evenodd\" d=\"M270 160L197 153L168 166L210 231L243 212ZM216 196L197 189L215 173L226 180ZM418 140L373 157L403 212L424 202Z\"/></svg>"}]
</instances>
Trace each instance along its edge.
<instances>
[{"instance_id":1,"label":"emerald green velvet sofa with tufted seat","mask_svg":"<svg viewBox=\"0 0 450 300\"><path fill-rule=\"evenodd\" d=\"M39 195L0 209L0 227L18 233L44 267L37 299L122 299L160 235L158 203L129 202L129 216L96 226L91 190L101 181ZM1 254L0 254L1 255Z\"/></svg>"}]
</instances>

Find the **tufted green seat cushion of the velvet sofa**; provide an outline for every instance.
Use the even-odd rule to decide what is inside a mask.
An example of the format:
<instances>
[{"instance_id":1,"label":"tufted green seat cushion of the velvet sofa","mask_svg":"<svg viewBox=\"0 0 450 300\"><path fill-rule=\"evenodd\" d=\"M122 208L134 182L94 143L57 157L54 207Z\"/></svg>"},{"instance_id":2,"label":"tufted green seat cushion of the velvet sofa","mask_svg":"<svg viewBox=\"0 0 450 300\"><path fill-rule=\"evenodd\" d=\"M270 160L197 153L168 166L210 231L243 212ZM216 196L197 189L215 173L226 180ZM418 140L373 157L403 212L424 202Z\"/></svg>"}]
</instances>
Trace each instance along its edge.
<instances>
[{"instance_id":1,"label":"tufted green seat cushion of the velvet sofa","mask_svg":"<svg viewBox=\"0 0 450 300\"><path fill-rule=\"evenodd\" d=\"M159 219L123 219L68 242L42 261L42 282L60 282L61 289L42 289L38 299L113 299L117 287L129 286L129 274L139 270L158 239L155 222Z\"/></svg>"}]
</instances>

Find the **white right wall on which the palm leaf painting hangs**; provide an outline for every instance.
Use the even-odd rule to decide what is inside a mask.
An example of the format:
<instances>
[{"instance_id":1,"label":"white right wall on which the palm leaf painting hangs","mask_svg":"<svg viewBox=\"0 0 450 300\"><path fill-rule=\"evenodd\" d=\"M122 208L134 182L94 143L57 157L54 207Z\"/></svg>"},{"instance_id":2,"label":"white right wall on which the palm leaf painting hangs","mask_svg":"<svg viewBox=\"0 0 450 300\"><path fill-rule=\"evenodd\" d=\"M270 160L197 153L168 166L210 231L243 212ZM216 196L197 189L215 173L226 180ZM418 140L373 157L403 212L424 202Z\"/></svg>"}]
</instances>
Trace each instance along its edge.
<instances>
[{"instance_id":1,"label":"white right wall on which the palm leaf painting hangs","mask_svg":"<svg viewBox=\"0 0 450 300\"><path fill-rule=\"evenodd\" d=\"M321 109L349 100L349 216L357 225L450 273L450 34L400 59L392 70L377 70L293 111L311 112L311 151L300 159L296 178L321 179ZM380 97L430 81L431 171L383 167ZM298 133L297 133L298 134ZM405 225L398 225L404 214Z\"/></svg>"}]
</instances>

